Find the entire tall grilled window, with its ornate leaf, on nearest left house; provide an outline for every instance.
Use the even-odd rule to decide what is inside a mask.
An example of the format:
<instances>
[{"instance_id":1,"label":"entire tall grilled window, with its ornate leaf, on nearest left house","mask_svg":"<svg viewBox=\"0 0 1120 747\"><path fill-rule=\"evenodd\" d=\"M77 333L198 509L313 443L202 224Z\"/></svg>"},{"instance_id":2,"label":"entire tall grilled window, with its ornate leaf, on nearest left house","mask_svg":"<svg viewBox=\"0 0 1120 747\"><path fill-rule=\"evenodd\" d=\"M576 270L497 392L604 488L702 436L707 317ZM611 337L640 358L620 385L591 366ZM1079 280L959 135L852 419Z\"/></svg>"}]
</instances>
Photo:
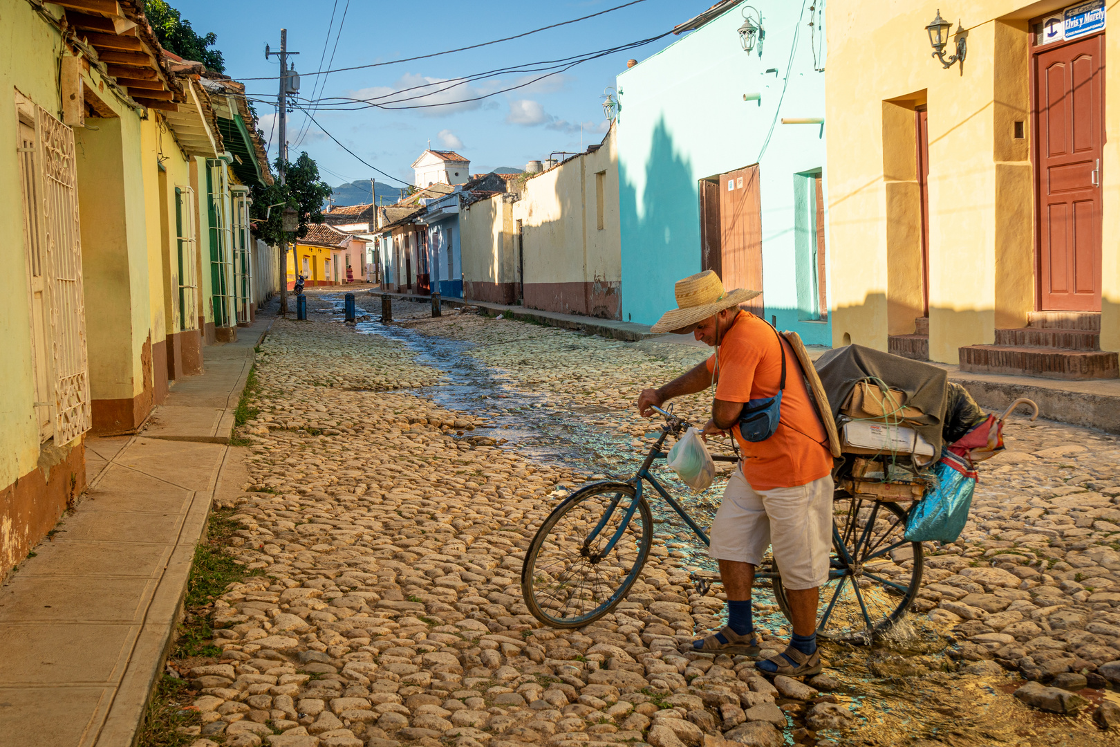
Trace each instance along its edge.
<instances>
[{"instance_id":1,"label":"entire tall grilled window, with its ornate leaf, on nearest left house","mask_svg":"<svg viewBox=\"0 0 1120 747\"><path fill-rule=\"evenodd\" d=\"M17 94L19 166L39 438L90 430L74 132Z\"/></svg>"}]
</instances>

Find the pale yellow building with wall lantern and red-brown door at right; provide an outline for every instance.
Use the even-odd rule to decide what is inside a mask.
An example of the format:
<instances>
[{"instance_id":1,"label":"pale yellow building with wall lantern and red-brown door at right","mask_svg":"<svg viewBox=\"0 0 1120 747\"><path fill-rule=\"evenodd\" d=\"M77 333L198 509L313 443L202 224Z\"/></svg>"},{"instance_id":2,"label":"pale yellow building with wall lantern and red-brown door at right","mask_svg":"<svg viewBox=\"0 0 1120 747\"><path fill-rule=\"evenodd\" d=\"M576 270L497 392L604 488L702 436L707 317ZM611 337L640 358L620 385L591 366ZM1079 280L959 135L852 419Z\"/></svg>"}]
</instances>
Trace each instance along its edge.
<instances>
[{"instance_id":1,"label":"pale yellow building with wall lantern and red-brown door at right","mask_svg":"<svg viewBox=\"0 0 1120 747\"><path fill-rule=\"evenodd\" d=\"M1120 74L1104 59L1120 34L1104 28L1120 16L1101 0L827 12L833 344L1117 376Z\"/></svg>"}]
</instances>

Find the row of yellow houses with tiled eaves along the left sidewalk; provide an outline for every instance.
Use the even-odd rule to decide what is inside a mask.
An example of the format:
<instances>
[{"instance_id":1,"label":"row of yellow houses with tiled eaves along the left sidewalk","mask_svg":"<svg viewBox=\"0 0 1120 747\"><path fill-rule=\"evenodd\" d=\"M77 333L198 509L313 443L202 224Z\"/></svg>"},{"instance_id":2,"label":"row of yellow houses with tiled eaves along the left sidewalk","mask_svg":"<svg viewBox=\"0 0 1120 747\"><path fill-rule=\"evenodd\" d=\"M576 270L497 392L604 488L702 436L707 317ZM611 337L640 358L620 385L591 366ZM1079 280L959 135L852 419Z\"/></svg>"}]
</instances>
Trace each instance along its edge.
<instances>
[{"instance_id":1,"label":"row of yellow houses with tiled eaves along the left sidewalk","mask_svg":"<svg viewBox=\"0 0 1120 747\"><path fill-rule=\"evenodd\" d=\"M0 579L84 491L85 435L134 432L170 381L202 373L212 196L231 206L231 324L250 318L236 305L251 277L237 256L250 253L248 189L203 192L214 168L237 181L226 165L248 153L220 132L202 66L164 53L139 8L16 0L0 21L0 221L13 228L0 273Z\"/></svg>"}]
</instances>

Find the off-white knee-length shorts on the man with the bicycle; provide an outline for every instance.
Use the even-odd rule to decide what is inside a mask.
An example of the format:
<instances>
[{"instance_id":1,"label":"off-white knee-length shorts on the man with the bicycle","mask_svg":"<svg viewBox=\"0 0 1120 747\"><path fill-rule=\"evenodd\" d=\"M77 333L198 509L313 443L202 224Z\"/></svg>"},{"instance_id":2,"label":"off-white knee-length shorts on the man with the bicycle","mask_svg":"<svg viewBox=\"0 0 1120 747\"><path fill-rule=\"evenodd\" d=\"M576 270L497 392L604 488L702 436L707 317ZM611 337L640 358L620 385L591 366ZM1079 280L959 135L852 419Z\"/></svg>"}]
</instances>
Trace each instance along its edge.
<instances>
[{"instance_id":1,"label":"off-white knee-length shorts on the man with the bicycle","mask_svg":"<svg viewBox=\"0 0 1120 747\"><path fill-rule=\"evenodd\" d=\"M832 492L831 475L795 487L756 491L740 463L716 512L708 553L758 567L773 545L785 588L822 586L832 549Z\"/></svg>"}]
</instances>

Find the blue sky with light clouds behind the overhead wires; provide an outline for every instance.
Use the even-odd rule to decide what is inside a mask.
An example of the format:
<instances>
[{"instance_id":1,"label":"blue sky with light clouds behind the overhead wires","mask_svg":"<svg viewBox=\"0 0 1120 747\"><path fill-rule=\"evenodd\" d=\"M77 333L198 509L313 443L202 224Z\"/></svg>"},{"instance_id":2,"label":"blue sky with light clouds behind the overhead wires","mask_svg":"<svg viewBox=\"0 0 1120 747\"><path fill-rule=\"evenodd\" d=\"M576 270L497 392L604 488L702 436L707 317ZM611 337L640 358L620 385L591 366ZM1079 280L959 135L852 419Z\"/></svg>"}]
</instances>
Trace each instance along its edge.
<instances>
[{"instance_id":1,"label":"blue sky with light clouds behind the overhead wires","mask_svg":"<svg viewBox=\"0 0 1120 747\"><path fill-rule=\"evenodd\" d=\"M390 62L489 41L587 16L626 1L389 3L351 0L330 68ZM401 88L495 68L612 48L668 31L712 2L644 0L598 18L482 49L332 73L327 76L323 95L384 96ZM274 58L264 59L264 45L278 49L280 28L287 27L288 48L301 53L293 58L296 69L300 73L326 69L346 3L347 0L338 0L337 7L334 0L171 1L196 31L214 31L217 35L217 47L226 60L226 74L245 81L250 94L272 101L278 88L276 80L245 80L279 74L279 63ZM320 68L319 59L324 54L333 8L336 8L334 30ZM520 168L529 160L547 158L553 150L578 150L581 128L585 147L599 141L606 127L601 106L604 88L614 85L615 75L626 68L628 58L643 59L675 38L670 35L638 49L613 53L526 87L497 93L477 102L404 111L321 111L315 118L363 159L409 183L412 179L410 166L428 146L429 139L432 148L454 149L469 158L470 170L476 174L500 166ZM460 84L442 93L432 91L444 86L423 88L419 93L429 94L428 97L410 103L458 101L517 85L541 74L502 74L496 78ZM302 77L302 96L311 97L316 80L309 75ZM276 108L258 103L256 111L262 116L261 127L265 136L271 134L270 157L274 157ZM371 176L379 181L389 181L371 172L314 124L301 137L304 125L301 112L289 115L291 159L306 150L318 161L320 174L332 185Z\"/></svg>"}]
</instances>

